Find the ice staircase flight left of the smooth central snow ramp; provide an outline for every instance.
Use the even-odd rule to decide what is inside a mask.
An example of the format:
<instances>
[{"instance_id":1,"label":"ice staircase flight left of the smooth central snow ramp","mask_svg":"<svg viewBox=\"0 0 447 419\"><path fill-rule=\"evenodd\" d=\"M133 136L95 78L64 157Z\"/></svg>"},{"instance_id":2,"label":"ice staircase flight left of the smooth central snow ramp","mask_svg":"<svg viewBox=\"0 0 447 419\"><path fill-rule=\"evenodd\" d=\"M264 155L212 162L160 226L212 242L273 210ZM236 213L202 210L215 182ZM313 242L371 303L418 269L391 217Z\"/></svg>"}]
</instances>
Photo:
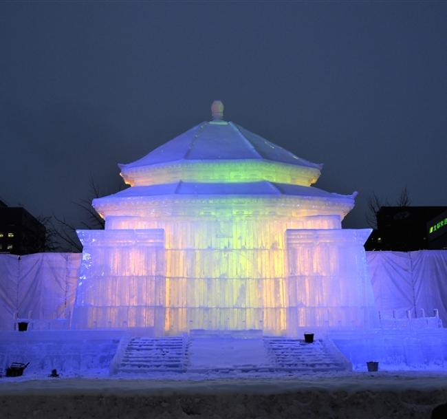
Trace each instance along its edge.
<instances>
[{"instance_id":1,"label":"ice staircase flight left of the smooth central snow ramp","mask_svg":"<svg viewBox=\"0 0 447 419\"><path fill-rule=\"evenodd\" d=\"M186 336L133 337L124 342L113 374L148 374L186 370Z\"/></svg>"}]
</instances>

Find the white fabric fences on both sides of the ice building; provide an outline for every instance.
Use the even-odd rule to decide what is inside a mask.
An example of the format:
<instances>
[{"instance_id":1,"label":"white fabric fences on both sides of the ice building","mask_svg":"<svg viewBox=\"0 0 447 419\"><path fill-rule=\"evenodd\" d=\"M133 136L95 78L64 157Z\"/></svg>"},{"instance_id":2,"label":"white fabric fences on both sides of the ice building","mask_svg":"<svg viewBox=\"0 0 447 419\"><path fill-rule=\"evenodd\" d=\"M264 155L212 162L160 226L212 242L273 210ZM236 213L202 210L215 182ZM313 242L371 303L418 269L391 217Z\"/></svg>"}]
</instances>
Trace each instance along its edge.
<instances>
[{"instance_id":1,"label":"white fabric fences on both sides of the ice building","mask_svg":"<svg viewBox=\"0 0 447 419\"><path fill-rule=\"evenodd\" d=\"M67 319L72 314L80 253L0 255L0 330L14 321ZM420 316L423 309L447 326L447 250L367 252L375 305L382 316Z\"/></svg>"}]
</instances>

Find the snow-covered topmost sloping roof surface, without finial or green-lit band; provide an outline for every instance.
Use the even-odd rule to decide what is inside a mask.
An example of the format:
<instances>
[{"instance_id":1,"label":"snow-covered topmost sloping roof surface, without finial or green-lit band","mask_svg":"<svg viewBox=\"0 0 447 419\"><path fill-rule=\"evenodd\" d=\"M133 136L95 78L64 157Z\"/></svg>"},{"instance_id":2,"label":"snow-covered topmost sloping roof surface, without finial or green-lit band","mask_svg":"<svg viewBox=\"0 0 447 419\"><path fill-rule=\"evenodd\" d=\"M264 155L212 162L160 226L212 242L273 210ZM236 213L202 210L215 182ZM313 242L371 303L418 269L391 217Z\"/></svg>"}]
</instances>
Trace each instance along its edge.
<instances>
[{"instance_id":1,"label":"snow-covered topmost sloping roof surface, without finial or green-lit band","mask_svg":"<svg viewBox=\"0 0 447 419\"><path fill-rule=\"evenodd\" d=\"M143 158L119 166L124 173L137 167L182 160L268 160L318 170L322 168L322 164L298 158L248 129L220 120L201 122Z\"/></svg>"}]
</instances>

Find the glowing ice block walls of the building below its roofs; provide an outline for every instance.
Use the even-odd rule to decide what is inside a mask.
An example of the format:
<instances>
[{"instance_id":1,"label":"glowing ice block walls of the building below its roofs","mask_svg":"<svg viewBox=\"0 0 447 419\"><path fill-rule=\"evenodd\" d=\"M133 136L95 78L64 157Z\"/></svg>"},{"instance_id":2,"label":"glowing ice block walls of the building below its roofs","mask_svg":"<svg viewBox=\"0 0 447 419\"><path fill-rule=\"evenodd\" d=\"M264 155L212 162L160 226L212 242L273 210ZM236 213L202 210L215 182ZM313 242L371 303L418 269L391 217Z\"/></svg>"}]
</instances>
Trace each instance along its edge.
<instances>
[{"instance_id":1,"label":"glowing ice block walls of the building below its roofs","mask_svg":"<svg viewBox=\"0 0 447 419\"><path fill-rule=\"evenodd\" d=\"M151 200L126 213L80 232L76 327L295 334L364 327L375 315L370 231L341 230L338 215L287 198Z\"/></svg>"}]
</instances>

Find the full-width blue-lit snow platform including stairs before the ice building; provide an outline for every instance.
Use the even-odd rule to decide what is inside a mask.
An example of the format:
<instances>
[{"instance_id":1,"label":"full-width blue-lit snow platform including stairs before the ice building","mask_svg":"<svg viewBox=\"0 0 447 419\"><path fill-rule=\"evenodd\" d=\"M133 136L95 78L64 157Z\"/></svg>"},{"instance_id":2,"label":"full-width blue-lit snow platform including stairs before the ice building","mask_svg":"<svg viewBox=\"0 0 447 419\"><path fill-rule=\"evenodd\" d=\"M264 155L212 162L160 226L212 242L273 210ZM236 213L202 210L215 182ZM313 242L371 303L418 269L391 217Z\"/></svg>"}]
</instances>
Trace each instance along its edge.
<instances>
[{"instance_id":1,"label":"full-width blue-lit snow platform including stairs before the ice building","mask_svg":"<svg viewBox=\"0 0 447 419\"><path fill-rule=\"evenodd\" d=\"M144 330L0 332L0 369L30 363L25 376L52 369L67 376L149 379L272 377L365 371L447 371L447 330L369 330L316 333L303 339L257 331L194 331L154 337Z\"/></svg>"}]
</instances>

